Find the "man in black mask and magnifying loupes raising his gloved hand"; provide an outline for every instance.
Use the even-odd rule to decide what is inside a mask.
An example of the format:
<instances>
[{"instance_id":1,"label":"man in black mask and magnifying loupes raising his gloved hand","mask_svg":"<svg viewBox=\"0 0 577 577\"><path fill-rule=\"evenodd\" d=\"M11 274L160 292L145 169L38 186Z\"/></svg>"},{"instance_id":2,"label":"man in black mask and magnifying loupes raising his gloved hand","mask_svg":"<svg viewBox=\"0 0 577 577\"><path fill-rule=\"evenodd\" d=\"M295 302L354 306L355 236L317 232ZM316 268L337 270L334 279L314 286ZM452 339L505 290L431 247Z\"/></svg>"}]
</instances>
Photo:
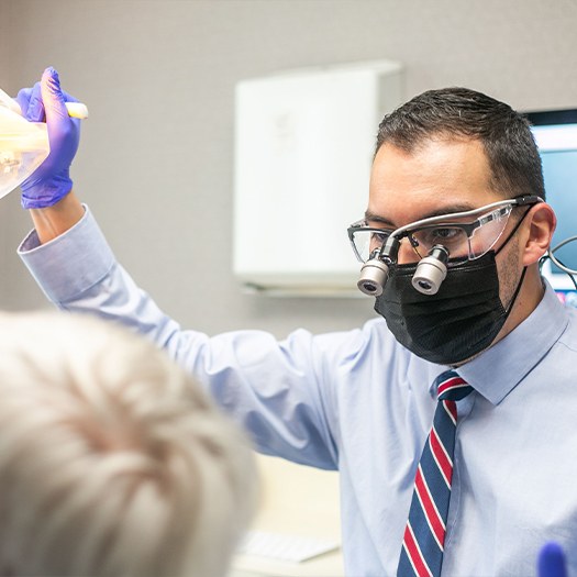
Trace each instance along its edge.
<instances>
[{"instance_id":1,"label":"man in black mask and magnifying loupes raising his gloved hand","mask_svg":"<svg viewBox=\"0 0 577 577\"><path fill-rule=\"evenodd\" d=\"M276 342L182 331L134 286L70 192L76 141L54 73L19 97L31 120L40 92L62 170L24 187L24 262L58 307L165 347L262 452L339 469L346 575L525 576L550 540L577 568L577 329L539 273L555 215L519 114L447 89L386 116L349 229L385 320Z\"/></svg>"}]
</instances>

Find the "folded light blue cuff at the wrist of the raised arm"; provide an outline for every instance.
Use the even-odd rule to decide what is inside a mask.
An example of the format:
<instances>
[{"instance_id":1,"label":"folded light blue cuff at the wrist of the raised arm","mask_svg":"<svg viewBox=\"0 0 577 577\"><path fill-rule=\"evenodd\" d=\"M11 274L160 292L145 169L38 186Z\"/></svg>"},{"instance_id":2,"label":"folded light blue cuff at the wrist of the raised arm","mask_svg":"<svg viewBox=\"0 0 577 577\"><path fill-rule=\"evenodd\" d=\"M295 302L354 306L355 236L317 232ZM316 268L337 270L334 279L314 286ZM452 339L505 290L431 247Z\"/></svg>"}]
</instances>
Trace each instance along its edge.
<instances>
[{"instance_id":1,"label":"folded light blue cuff at the wrist of the raised arm","mask_svg":"<svg viewBox=\"0 0 577 577\"><path fill-rule=\"evenodd\" d=\"M31 231L18 254L46 297L56 303L78 298L103 277L115 263L114 255L85 206L84 217L68 231L41 244Z\"/></svg>"}]
</instances>

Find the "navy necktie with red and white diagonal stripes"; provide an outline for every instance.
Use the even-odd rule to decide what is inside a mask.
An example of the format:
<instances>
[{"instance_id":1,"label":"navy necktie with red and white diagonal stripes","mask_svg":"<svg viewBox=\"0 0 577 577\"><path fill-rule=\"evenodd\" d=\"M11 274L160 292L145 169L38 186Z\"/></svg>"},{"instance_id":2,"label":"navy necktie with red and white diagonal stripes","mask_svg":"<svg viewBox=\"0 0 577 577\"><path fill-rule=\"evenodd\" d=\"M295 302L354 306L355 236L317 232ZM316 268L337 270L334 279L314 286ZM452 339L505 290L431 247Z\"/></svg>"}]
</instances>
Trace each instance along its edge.
<instances>
[{"instance_id":1,"label":"navy necktie with red and white diagonal stripes","mask_svg":"<svg viewBox=\"0 0 577 577\"><path fill-rule=\"evenodd\" d=\"M397 577L441 575L453 478L456 401L471 392L473 387L454 370L440 375L435 385L439 404L417 468Z\"/></svg>"}]
</instances>

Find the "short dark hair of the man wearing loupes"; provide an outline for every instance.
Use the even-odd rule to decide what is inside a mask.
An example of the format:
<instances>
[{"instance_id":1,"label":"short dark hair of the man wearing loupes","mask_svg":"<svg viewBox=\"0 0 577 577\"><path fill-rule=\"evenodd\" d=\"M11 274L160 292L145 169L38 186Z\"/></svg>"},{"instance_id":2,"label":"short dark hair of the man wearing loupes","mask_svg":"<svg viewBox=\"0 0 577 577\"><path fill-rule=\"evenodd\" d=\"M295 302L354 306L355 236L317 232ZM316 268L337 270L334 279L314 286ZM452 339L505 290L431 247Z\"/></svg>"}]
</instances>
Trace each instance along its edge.
<instances>
[{"instance_id":1,"label":"short dark hair of the man wearing loupes","mask_svg":"<svg viewBox=\"0 0 577 577\"><path fill-rule=\"evenodd\" d=\"M545 199L529 121L504 102L467 88L429 90L382 119L376 152L384 143L411 152L434 136L477 138L489 159L495 190L509 198Z\"/></svg>"}]
</instances>

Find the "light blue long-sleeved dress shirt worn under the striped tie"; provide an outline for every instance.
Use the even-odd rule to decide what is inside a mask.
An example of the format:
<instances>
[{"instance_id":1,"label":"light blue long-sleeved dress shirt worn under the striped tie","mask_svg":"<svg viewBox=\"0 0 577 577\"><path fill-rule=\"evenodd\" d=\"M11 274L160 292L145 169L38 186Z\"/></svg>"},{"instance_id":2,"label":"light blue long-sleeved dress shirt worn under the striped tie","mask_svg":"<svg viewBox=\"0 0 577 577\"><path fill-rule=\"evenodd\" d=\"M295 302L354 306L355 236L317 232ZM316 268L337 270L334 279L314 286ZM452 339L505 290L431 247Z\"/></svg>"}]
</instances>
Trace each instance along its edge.
<instances>
[{"instance_id":1,"label":"light blue long-sleeved dress shirt worn under the striped tie","mask_svg":"<svg viewBox=\"0 0 577 577\"><path fill-rule=\"evenodd\" d=\"M96 221L20 254L62 309L118 319L165 347L251 431L259 451L339 469L348 577L393 576L417 464L447 367L403 348L380 319L278 342L184 331L116 263ZM547 287L518 329L459 369L444 576L531 576L557 541L577 575L577 324ZM289 489L289 488L288 488Z\"/></svg>"}]
</instances>

